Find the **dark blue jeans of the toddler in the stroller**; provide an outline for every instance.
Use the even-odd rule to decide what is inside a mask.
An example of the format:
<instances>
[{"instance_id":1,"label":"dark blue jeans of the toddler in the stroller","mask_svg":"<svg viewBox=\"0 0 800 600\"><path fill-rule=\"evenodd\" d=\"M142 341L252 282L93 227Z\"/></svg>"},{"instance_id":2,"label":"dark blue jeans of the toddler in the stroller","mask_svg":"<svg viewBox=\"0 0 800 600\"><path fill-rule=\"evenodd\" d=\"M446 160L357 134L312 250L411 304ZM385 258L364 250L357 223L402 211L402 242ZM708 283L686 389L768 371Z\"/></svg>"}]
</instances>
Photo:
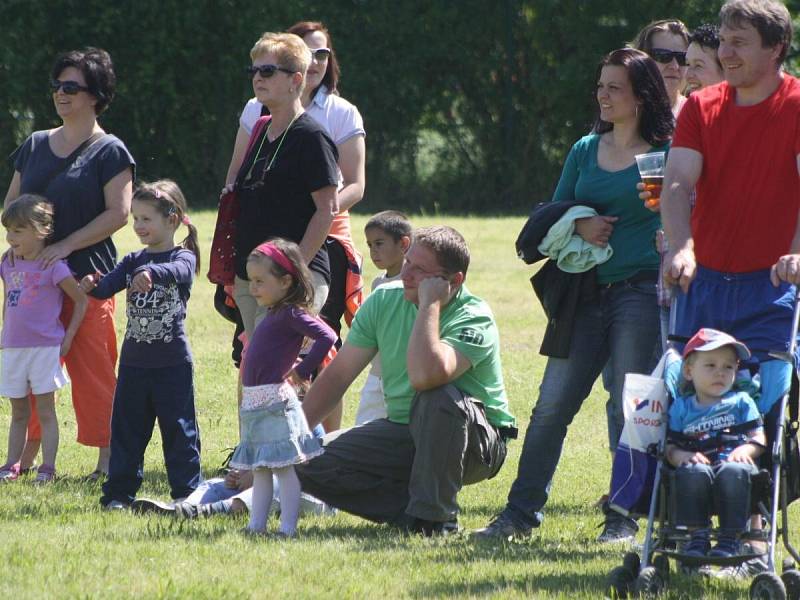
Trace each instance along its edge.
<instances>
[{"instance_id":1,"label":"dark blue jeans of the toddler in the stroller","mask_svg":"<svg viewBox=\"0 0 800 600\"><path fill-rule=\"evenodd\" d=\"M750 477L758 467L745 463L683 465L672 473L670 512L676 525L708 527L712 511L720 529L744 531L750 518Z\"/></svg>"}]
</instances>

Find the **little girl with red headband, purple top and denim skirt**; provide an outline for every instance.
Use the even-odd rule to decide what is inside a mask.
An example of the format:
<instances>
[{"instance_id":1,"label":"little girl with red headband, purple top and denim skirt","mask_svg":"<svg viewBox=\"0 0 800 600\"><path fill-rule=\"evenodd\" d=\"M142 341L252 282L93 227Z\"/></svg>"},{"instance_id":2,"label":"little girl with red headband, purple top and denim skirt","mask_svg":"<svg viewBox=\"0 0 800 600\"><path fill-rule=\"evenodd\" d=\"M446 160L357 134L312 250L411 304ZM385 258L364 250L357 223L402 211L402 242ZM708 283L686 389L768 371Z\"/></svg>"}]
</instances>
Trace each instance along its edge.
<instances>
[{"instance_id":1,"label":"little girl with red headband, purple top and denim skirt","mask_svg":"<svg viewBox=\"0 0 800 600\"><path fill-rule=\"evenodd\" d=\"M336 334L307 311L314 287L300 248L280 238L255 248L247 259L250 294L268 309L256 326L242 365L241 442L230 461L253 471L253 508L245 531L266 532L272 503L272 475L281 501L279 535L293 537L300 508L300 482L294 465L322 453L292 384L305 387ZM314 340L295 364L304 338Z\"/></svg>"}]
</instances>

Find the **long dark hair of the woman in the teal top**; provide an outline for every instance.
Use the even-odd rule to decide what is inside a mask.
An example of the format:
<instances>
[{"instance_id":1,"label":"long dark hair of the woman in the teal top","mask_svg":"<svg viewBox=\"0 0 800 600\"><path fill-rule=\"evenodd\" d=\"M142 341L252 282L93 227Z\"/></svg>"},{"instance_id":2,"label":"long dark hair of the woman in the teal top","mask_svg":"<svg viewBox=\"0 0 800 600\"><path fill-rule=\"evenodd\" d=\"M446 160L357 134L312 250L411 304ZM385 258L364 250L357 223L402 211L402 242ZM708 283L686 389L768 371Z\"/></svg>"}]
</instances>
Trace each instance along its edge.
<instances>
[{"instance_id":1,"label":"long dark hair of the woman in the teal top","mask_svg":"<svg viewBox=\"0 0 800 600\"><path fill-rule=\"evenodd\" d=\"M655 61L634 48L620 48L607 54L597 66L595 81L599 81L603 67L624 67L631 82L633 95L641 102L639 135L651 146L661 146L672 138L675 117L672 114L667 88ZM598 106L599 110L599 106ZM614 124L600 119L598 112L593 127L595 133L606 133Z\"/></svg>"}]
</instances>

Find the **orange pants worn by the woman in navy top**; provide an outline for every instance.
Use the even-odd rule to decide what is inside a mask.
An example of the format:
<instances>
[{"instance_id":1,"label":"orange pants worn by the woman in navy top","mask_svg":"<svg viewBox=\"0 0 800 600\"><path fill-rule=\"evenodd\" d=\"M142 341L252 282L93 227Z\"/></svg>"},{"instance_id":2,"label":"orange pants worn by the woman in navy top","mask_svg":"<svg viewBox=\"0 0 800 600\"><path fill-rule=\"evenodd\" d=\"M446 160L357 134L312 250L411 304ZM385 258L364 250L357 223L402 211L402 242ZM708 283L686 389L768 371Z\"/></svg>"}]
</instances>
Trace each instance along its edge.
<instances>
[{"instance_id":1,"label":"orange pants worn by the woman in navy top","mask_svg":"<svg viewBox=\"0 0 800 600\"><path fill-rule=\"evenodd\" d=\"M117 334L114 329L114 298L89 297L89 306L72 347L64 357L72 380L72 405L78 423L78 443L104 448L111 440L111 406L117 386ZM64 298L61 322L72 318L72 300ZM28 439L42 438L39 416L34 410L28 421Z\"/></svg>"}]
</instances>

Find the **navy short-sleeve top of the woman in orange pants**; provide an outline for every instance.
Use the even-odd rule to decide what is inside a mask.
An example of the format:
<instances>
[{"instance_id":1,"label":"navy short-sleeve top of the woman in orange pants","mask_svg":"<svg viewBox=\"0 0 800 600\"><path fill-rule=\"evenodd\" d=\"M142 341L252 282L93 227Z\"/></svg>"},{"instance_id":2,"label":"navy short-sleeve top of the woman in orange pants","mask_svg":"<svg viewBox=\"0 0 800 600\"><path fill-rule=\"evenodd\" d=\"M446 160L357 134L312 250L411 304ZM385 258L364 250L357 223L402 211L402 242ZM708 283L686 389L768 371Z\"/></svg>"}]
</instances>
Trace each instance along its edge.
<instances>
[{"instance_id":1,"label":"navy short-sleeve top of the woman in orange pants","mask_svg":"<svg viewBox=\"0 0 800 600\"><path fill-rule=\"evenodd\" d=\"M67 169L67 159L53 154L49 131L36 131L11 155L21 175L20 193L39 194L53 204L58 242L88 225L106 210L103 187L125 169L136 175L136 162L117 137L106 134L86 148ZM47 182L48 177L58 175ZM77 277L99 271L108 273L117 262L110 237L76 250L67 264Z\"/></svg>"}]
</instances>

